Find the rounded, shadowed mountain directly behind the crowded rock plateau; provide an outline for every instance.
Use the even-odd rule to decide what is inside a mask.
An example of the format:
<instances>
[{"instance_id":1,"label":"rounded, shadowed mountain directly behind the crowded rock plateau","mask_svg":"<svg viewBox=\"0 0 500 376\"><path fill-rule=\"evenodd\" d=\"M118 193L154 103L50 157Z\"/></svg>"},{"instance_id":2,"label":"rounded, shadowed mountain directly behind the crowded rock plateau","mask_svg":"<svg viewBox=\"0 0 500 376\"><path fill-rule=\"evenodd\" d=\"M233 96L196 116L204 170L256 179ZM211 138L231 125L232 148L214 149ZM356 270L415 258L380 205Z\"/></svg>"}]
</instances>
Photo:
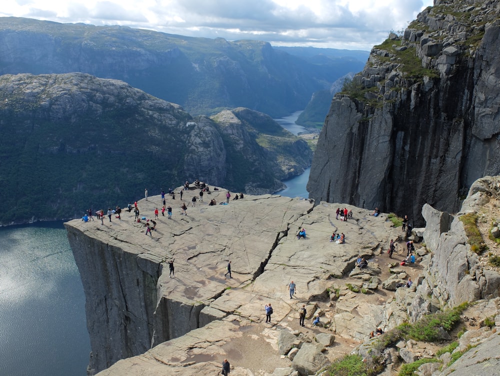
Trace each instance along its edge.
<instances>
[{"instance_id":1,"label":"rounded, shadowed mountain directly behind the crowded rock plateau","mask_svg":"<svg viewBox=\"0 0 500 376\"><path fill-rule=\"evenodd\" d=\"M271 193L309 166L306 142L269 116L225 113L193 118L83 73L0 76L0 224L74 218L196 178Z\"/></svg>"}]
</instances>

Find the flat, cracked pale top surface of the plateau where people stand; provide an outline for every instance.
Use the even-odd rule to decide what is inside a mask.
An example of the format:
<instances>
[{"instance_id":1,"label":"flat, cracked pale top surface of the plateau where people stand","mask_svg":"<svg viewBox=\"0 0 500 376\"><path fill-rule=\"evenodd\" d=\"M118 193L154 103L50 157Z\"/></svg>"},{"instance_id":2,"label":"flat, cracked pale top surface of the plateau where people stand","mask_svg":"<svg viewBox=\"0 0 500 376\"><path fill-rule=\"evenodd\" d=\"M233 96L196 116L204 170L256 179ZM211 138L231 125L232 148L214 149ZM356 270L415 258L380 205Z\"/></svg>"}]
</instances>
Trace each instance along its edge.
<instances>
[{"instance_id":1,"label":"flat, cracked pale top surface of the plateau where people stand","mask_svg":"<svg viewBox=\"0 0 500 376\"><path fill-rule=\"evenodd\" d=\"M198 192L184 191L182 201L190 205L191 197ZM377 307L389 299L391 292L378 289L364 295L347 291L335 303L330 303L328 296L334 289L345 289L346 282L362 284L362 280L348 277L358 255L380 268L381 280L388 278L392 260L385 251L389 240L402 234L385 214L375 218L367 210L347 206L353 211L353 219L344 222L335 219L335 210L345 205L322 202L313 208L307 200L277 195L245 196L227 205L208 206L212 198L217 203L225 202L225 193L205 194L204 202L189 206L184 216L180 215L179 195L175 200L167 196L167 204L173 208L172 219L160 213L152 237L145 235L144 223L134 222L133 211L122 212L121 220L113 216L111 223L106 217L103 225L81 220L66 224L139 259L161 264L158 299L201 304L228 315L143 355L118 361L99 375L125 370L126 375L142 375L145 370L147 375L194 375L201 370L215 375L224 358L234 367L231 375L270 374L275 368L291 366L278 354L280 329L300 331L311 341L315 334L333 331L336 340L324 353L331 360L349 353L370 331L386 323ZM138 206L139 217L154 219L154 209L161 208L161 200L159 196L148 197ZM298 240L295 235L302 227L307 236ZM332 232L344 233L345 243L330 242ZM403 248L400 242L394 258L402 257ZM175 277L169 278L166 262L172 258ZM224 277L229 260L231 279ZM416 277L416 271L408 273ZM287 287L291 280L296 284L292 299ZM270 324L265 323L264 305L268 303L274 311ZM299 327L298 308L302 304L317 307L321 323L330 328L311 327L310 319L305 327ZM365 330L358 333L359 329L352 328Z\"/></svg>"}]
</instances>

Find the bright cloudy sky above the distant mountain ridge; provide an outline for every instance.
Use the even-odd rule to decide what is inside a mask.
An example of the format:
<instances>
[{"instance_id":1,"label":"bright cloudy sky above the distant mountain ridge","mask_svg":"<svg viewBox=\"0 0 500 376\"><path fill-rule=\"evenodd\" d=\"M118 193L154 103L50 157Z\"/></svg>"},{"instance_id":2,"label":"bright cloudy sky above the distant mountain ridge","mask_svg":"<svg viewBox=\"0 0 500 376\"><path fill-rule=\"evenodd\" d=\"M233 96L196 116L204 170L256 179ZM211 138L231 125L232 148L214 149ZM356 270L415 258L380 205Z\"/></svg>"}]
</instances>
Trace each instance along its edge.
<instances>
[{"instance_id":1,"label":"bright cloudy sky above the distant mountain ridge","mask_svg":"<svg viewBox=\"0 0 500 376\"><path fill-rule=\"evenodd\" d=\"M127 25L272 45L366 49L432 0L3 0L0 16Z\"/></svg>"}]
</instances>

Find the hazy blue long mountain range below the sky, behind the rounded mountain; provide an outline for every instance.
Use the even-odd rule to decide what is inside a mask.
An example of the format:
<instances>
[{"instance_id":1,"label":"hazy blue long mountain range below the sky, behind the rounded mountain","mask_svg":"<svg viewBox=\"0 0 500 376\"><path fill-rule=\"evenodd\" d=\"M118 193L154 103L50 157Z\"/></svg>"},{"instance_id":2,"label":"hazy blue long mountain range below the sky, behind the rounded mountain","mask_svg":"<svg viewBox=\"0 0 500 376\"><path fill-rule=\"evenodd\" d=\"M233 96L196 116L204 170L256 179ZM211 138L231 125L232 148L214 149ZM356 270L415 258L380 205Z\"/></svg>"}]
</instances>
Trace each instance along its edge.
<instances>
[{"instance_id":1,"label":"hazy blue long mountain range below the sky, behind the rounded mountain","mask_svg":"<svg viewBox=\"0 0 500 376\"><path fill-rule=\"evenodd\" d=\"M120 79L191 114L247 107L274 117L362 62L308 62L252 40L0 17L0 74L83 72Z\"/></svg>"}]
</instances>

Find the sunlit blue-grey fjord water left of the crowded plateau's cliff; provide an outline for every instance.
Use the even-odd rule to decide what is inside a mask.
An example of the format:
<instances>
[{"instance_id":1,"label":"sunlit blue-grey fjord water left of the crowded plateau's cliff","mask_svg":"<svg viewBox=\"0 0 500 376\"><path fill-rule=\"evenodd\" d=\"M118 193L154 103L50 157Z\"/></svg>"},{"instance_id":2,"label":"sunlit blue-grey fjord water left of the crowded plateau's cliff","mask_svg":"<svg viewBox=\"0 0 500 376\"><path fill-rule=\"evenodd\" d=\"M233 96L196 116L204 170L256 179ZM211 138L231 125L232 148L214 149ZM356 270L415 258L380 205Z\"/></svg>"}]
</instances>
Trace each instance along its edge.
<instances>
[{"instance_id":1,"label":"sunlit blue-grey fjord water left of the crowded plateau's cliff","mask_svg":"<svg viewBox=\"0 0 500 376\"><path fill-rule=\"evenodd\" d=\"M0 228L0 375L84 376L89 353L62 222Z\"/></svg>"}]
</instances>

